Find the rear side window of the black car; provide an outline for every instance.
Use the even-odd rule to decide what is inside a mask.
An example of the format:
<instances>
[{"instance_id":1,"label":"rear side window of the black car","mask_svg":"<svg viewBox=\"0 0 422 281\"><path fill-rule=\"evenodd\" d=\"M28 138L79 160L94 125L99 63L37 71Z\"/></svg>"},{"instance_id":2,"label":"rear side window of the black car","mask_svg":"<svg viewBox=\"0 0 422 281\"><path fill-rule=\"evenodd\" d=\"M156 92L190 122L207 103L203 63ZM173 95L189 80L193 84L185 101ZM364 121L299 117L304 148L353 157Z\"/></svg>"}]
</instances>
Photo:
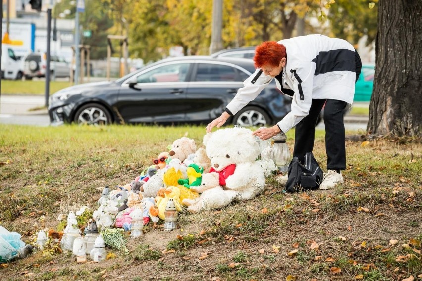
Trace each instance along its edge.
<instances>
[{"instance_id":1,"label":"rear side window of the black car","mask_svg":"<svg viewBox=\"0 0 422 281\"><path fill-rule=\"evenodd\" d=\"M243 81L234 67L221 64L200 63L194 81Z\"/></svg>"}]
</instances>

